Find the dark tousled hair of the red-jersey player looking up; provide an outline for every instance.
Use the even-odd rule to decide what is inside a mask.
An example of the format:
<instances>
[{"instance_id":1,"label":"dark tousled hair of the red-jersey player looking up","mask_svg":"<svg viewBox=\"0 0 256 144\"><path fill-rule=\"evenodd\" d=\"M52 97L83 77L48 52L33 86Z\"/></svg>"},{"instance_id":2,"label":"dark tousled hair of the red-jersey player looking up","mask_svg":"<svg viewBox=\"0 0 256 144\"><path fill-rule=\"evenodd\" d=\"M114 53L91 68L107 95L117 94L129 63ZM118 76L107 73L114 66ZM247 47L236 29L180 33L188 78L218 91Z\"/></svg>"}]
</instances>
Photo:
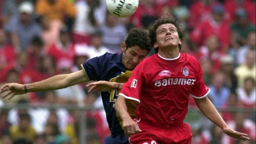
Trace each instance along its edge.
<instances>
[{"instance_id":1,"label":"dark tousled hair of the red-jersey player looking up","mask_svg":"<svg viewBox=\"0 0 256 144\"><path fill-rule=\"evenodd\" d=\"M181 24L180 21L177 18L162 18L157 21L155 21L150 27L149 27L149 38L150 38L150 44L152 47L154 47L154 43L156 43L156 29L165 24L165 23L172 23L177 28L179 38L181 41L184 38L184 34L181 30ZM155 52L158 52L158 47L155 47ZM179 45L179 49L181 49L181 45Z\"/></svg>"}]
</instances>

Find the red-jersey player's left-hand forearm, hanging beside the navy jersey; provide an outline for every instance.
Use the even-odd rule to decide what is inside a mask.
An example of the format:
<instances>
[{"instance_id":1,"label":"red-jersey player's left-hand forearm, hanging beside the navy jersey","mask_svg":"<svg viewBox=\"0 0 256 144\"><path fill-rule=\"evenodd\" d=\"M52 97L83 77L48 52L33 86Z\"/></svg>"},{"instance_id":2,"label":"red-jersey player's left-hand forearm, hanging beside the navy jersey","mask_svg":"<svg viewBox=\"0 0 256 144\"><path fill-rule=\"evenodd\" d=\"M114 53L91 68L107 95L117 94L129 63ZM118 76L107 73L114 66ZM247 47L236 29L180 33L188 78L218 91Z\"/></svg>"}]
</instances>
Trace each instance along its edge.
<instances>
[{"instance_id":1,"label":"red-jersey player's left-hand forearm, hanging beside the navy jersey","mask_svg":"<svg viewBox=\"0 0 256 144\"><path fill-rule=\"evenodd\" d=\"M115 109L123 120L126 118L131 118L127 111L127 105L125 103L125 98L123 96L119 95L116 99Z\"/></svg>"}]
</instances>

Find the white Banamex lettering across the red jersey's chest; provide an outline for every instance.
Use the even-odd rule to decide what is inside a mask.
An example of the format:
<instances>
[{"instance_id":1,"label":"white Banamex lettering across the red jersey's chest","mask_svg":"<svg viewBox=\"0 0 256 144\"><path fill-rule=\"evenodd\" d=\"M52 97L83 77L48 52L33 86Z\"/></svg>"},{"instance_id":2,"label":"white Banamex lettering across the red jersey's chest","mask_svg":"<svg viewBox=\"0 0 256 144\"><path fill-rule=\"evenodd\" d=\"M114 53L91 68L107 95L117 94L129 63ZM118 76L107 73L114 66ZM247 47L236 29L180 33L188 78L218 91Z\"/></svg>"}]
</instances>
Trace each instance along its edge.
<instances>
[{"instance_id":1,"label":"white Banamex lettering across the red jersey's chest","mask_svg":"<svg viewBox=\"0 0 256 144\"><path fill-rule=\"evenodd\" d=\"M155 86L166 85L194 85L196 79L193 78L164 78L155 82Z\"/></svg>"}]
</instances>

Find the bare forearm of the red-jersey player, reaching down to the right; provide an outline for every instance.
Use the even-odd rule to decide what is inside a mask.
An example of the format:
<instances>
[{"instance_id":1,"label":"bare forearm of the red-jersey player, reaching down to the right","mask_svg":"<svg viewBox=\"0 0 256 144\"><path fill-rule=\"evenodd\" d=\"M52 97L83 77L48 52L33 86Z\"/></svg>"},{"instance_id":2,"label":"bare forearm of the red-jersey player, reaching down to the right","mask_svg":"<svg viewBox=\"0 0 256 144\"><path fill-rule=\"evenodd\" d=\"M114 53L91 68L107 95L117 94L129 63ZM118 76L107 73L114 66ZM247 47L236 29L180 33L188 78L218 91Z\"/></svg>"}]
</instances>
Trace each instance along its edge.
<instances>
[{"instance_id":1,"label":"bare forearm of the red-jersey player, reaching down to the right","mask_svg":"<svg viewBox=\"0 0 256 144\"><path fill-rule=\"evenodd\" d=\"M214 124L218 125L222 130L227 127L226 122L223 120L217 109L209 98L195 99L197 107L202 113Z\"/></svg>"}]
</instances>

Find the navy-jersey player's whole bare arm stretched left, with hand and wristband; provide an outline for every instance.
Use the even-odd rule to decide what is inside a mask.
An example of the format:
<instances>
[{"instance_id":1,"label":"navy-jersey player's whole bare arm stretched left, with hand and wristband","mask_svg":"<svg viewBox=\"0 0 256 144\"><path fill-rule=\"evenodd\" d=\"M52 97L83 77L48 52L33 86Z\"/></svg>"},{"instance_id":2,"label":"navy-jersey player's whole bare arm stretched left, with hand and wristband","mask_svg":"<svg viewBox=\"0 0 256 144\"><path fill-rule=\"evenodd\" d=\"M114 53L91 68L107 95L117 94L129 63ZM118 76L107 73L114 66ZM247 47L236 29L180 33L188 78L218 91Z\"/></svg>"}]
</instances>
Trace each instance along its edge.
<instances>
[{"instance_id":1,"label":"navy-jersey player's whole bare arm stretched left, with hand and wristband","mask_svg":"<svg viewBox=\"0 0 256 144\"><path fill-rule=\"evenodd\" d=\"M89 78L83 70L79 70L71 74L55 75L53 77L44 79L43 81L26 84L26 86L18 83L8 83L1 87L0 94L3 94L3 98L9 97L9 99L11 99L17 94L63 89L65 87L86 81L89 81Z\"/></svg>"}]
</instances>

